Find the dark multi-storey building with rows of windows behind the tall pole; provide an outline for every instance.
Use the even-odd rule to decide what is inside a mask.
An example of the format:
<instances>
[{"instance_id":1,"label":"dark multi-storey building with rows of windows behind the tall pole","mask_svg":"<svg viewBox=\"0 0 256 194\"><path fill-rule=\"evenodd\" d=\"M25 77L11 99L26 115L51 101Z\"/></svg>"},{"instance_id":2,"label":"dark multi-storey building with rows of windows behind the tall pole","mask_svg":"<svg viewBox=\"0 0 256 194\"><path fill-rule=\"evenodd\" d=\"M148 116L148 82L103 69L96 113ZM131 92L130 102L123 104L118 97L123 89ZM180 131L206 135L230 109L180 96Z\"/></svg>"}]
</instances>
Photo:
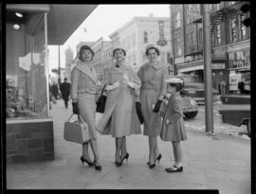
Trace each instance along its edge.
<instances>
[{"instance_id":1,"label":"dark multi-storey building with rows of windows behind the tall pole","mask_svg":"<svg viewBox=\"0 0 256 194\"><path fill-rule=\"evenodd\" d=\"M237 93L238 82L250 85L250 34L243 20L249 13L240 8L248 2L210 4L212 86L227 82L227 92ZM204 79L203 28L200 5L172 5L174 66L177 74L194 74Z\"/></svg>"}]
</instances>

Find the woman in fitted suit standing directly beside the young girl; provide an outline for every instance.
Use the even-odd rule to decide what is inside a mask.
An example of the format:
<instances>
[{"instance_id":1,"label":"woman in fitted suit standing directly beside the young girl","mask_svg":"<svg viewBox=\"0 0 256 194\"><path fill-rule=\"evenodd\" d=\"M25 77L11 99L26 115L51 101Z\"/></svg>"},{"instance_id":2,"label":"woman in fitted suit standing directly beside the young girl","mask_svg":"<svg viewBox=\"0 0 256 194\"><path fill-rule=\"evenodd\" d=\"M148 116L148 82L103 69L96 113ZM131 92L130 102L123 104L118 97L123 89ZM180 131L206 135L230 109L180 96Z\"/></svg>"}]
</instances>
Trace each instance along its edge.
<instances>
[{"instance_id":1,"label":"woman in fitted suit standing directly beside the young girl","mask_svg":"<svg viewBox=\"0 0 256 194\"><path fill-rule=\"evenodd\" d=\"M141 80L140 101L142 114L144 117L144 132L149 136L149 168L155 168L162 157L157 146L157 136L161 130L161 117L158 115L160 104L166 95L166 82L168 76L168 65L157 62L160 51L154 45L149 45L146 49L146 56L149 62L143 64L137 76ZM153 108L153 106L155 106Z\"/></svg>"}]
</instances>

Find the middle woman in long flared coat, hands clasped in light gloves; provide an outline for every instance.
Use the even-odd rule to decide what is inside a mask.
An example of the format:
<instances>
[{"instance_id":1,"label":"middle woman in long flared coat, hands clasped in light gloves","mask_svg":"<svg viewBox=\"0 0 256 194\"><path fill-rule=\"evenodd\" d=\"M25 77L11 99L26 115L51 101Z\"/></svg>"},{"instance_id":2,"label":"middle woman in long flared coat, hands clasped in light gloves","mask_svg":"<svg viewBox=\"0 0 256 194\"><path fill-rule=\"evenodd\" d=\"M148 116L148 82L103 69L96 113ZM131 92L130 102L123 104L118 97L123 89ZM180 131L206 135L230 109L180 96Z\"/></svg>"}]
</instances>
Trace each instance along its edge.
<instances>
[{"instance_id":1,"label":"middle woman in long flared coat, hands clasped in light gloves","mask_svg":"<svg viewBox=\"0 0 256 194\"><path fill-rule=\"evenodd\" d=\"M105 73L107 100L104 115L97 129L101 134L111 134L116 138L117 167L129 157L126 136L141 133L135 108L140 80L134 70L124 63L125 55L126 52L122 48L113 51L116 62Z\"/></svg>"}]
</instances>

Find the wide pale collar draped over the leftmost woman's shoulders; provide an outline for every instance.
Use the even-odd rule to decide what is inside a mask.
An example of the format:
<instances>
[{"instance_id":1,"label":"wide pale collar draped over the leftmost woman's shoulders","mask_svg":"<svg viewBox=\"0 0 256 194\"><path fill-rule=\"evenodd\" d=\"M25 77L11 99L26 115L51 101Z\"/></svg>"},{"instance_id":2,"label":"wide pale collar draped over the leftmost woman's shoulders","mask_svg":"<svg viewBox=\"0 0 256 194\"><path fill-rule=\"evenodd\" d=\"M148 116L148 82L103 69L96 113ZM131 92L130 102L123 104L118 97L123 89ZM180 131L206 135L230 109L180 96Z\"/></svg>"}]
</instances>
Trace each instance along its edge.
<instances>
[{"instance_id":1,"label":"wide pale collar draped over the leftmost woman's shoulders","mask_svg":"<svg viewBox=\"0 0 256 194\"><path fill-rule=\"evenodd\" d=\"M79 60L75 66L78 70L82 71L83 74L92 79L95 83L97 82L97 74L93 67L92 62L82 62Z\"/></svg>"}]
</instances>

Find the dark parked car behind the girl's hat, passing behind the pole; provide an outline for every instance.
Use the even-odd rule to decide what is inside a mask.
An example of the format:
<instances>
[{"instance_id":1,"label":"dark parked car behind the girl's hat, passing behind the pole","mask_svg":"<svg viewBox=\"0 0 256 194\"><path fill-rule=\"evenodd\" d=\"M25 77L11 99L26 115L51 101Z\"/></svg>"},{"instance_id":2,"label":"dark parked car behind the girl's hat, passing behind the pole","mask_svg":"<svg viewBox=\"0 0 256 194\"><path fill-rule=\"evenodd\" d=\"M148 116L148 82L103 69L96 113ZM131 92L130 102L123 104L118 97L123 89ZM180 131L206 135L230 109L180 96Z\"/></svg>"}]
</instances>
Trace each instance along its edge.
<instances>
[{"instance_id":1,"label":"dark parked car behind the girl's hat, passing behind the pole","mask_svg":"<svg viewBox=\"0 0 256 194\"><path fill-rule=\"evenodd\" d=\"M184 80L184 90L188 92L188 96L195 99L197 104L205 103L205 83L198 76L193 75L180 75L173 78ZM212 88L212 100L220 101L220 95L217 89Z\"/></svg>"}]
</instances>

